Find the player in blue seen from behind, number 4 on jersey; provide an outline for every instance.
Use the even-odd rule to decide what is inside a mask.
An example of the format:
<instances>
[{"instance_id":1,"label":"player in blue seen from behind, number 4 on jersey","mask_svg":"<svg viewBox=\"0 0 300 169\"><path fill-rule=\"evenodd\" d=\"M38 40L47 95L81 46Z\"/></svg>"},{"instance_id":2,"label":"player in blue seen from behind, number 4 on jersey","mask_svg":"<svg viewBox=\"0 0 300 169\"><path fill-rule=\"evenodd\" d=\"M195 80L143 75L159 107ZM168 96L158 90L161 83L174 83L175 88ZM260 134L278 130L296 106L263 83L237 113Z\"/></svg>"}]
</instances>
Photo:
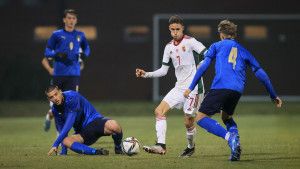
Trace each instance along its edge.
<instances>
[{"instance_id":1,"label":"player in blue seen from behind, number 4 on jersey","mask_svg":"<svg viewBox=\"0 0 300 169\"><path fill-rule=\"evenodd\" d=\"M256 59L234 39L237 25L229 20L223 20L218 25L218 31L221 41L212 44L205 53L204 61L184 96L189 96L212 60L216 59L215 78L210 91L204 97L196 121L208 132L227 140L231 149L230 160L237 161L240 160L241 149L237 125L232 115L244 90L247 66L251 67L255 76L264 84L277 107L281 107L282 101ZM210 118L219 112L222 113L227 130Z\"/></svg>"}]
</instances>

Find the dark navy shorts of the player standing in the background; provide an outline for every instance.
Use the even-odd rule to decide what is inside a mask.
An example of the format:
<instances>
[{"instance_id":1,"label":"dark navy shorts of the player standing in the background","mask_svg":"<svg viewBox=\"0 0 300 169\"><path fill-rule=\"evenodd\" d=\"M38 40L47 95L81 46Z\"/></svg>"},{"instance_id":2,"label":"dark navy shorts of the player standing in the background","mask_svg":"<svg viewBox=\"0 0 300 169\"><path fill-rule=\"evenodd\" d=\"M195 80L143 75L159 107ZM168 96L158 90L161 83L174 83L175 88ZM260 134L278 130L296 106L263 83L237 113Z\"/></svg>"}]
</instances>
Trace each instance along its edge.
<instances>
[{"instance_id":1,"label":"dark navy shorts of the player standing in the background","mask_svg":"<svg viewBox=\"0 0 300 169\"><path fill-rule=\"evenodd\" d=\"M53 76L53 85L59 87L62 91L79 90L79 76Z\"/></svg>"}]
</instances>

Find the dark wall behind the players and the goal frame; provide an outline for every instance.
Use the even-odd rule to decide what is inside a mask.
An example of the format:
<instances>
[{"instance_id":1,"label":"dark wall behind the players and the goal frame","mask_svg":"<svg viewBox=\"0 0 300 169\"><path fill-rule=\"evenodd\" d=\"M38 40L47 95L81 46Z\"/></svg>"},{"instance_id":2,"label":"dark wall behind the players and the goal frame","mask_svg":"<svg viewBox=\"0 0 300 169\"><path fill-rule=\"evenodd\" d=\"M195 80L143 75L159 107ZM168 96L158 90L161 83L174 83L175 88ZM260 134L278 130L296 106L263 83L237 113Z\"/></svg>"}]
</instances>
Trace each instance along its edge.
<instances>
[{"instance_id":1,"label":"dark wall behind the players and the goal frame","mask_svg":"<svg viewBox=\"0 0 300 169\"><path fill-rule=\"evenodd\" d=\"M90 41L91 57L82 72L80 92L90 99L151 100L152 80L136 79L135 68L152 70L152 22L158 13L168 14L299 14L297 1L104 1L104 0L0 0L0 100L34 100L43 98L49 75L41 66L46 41L34 39L36 26L62 26L65 8L79 12L79 25L94 25L98 38ZM221 18L220 18L221 19ZM220 20L214 21L217 25ZM199 21L200 22L200 21ZM239 28L256 21L239 21ZM266 41L238 40L259 60L280 95L300 95L298 78L299 21L259 21L269 27ZM129 25L146 25L149 37L143 42L128 42L124 29ZM167 27L161 28L161 48L170 40ZM218 36L202 41L209 46ZM242 35L242 32L240 32ZM287 41L280 43L278 35ZM163 51L160 51L162 55ZM209 88L213 67L209 69ZM174 86L173 69L162 80L162 94ZM249 75L245 94L266 95L262 85Z\"/></svg>"}]
</instances>

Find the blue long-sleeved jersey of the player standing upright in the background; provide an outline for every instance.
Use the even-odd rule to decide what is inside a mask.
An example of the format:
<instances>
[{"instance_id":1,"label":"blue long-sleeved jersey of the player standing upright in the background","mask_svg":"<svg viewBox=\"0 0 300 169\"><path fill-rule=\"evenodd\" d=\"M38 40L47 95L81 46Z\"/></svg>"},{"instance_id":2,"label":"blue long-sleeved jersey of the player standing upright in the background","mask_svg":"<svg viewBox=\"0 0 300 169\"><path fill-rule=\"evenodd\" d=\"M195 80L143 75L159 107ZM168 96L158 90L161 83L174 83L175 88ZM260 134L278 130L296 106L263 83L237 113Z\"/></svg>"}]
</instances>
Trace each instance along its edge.
<instances>
[{"instance_id":1,"label":"blue long-sleeved jersey of the player standing upright in the background","mask_svg":"<svg viewBox=\"0 0 300 169\"><path fill-rule=\"evenodd\" d=\"M65 59L57 56L58 53L67 55ZM79 55L90 55L90 47L81 31L72 32L64 29L53 32L47 42L45 56L54 59L54 76L80 76Z\"/></svg>"}]
</instances>

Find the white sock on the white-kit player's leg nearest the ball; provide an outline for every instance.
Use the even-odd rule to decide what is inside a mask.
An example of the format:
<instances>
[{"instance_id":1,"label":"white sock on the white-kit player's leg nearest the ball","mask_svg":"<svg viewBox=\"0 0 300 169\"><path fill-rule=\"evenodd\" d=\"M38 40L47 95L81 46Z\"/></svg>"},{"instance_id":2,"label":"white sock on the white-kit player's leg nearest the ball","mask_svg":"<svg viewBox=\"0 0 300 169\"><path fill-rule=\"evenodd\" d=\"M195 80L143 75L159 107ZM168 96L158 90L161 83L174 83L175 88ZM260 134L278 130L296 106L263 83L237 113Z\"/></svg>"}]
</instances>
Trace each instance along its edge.
<instances>
[{"instance_id":1,"label":"white sock on the white-kit player's leg nearest the ball","mask_svg":"<svg viewBox=\"0 0 300 169\"><path fill-rule=\"evenodd\" d=\"M166 144L167 120L156 118L155 128L157 143Z\"/></svg>"}]
</instances>

